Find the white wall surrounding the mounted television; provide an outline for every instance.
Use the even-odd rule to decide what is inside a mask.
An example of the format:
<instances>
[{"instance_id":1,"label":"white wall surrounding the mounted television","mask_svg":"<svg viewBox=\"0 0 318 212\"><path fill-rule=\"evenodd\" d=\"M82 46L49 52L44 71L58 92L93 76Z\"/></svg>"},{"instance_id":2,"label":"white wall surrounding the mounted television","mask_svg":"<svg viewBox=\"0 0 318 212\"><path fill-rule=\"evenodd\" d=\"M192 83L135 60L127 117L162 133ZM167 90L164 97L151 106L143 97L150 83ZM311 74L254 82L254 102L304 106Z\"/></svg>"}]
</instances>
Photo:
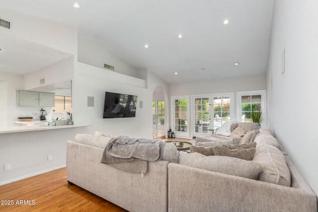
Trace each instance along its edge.
<instances>
[{"instance_id":1,"label":"white wall surrounding the mounted television","mask_svg":"<svg viewBox=\"0 0 318 212\"><path fill-rule=\"evenodd\" d=\"M152 138L152 95L154 86L162 86L160 79L154 75L151 86L146 81L94 66L77 63L73 83L73 114L76 124L93 124L95 131L129 135L133 137ZM150 74L148 74L150 75ZM167 89L167 85L165 90ZM135 118L103 119L105 91L137 95ZM94 97L94 107L87 107L87 96ZM140 108L143 101L143 108Z\"/></svg>"}]
</instances>

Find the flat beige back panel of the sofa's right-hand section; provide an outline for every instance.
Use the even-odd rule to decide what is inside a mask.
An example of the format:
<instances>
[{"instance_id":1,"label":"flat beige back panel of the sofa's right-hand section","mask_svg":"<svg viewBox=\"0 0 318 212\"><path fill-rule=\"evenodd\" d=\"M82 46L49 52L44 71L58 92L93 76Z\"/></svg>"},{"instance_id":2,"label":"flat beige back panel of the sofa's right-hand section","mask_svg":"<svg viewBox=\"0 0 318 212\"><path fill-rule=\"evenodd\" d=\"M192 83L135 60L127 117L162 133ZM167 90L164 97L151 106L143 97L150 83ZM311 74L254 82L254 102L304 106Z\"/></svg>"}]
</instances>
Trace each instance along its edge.
<instances>
[{"instance_id":1,"label":"flat beige back panel of the sofa's right-hand section","mask_svg":"<svg viewBox=\"0 0 318 212\"><path fill-rule=\"evenodd\" d=\"M168 165L168 201L169 212L317 212L314 192L173 163Z\"/></svg>"}]
</instances>

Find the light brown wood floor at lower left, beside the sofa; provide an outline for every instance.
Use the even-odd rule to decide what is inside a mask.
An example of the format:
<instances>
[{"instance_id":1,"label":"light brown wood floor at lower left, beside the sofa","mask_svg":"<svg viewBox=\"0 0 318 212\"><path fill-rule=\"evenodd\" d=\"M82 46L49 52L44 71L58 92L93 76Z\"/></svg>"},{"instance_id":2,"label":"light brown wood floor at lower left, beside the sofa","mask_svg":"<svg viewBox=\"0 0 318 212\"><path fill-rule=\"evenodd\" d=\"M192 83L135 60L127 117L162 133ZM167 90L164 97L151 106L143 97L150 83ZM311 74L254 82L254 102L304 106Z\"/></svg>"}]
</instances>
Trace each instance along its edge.
<instances>
[{"instance_id":1,"label":"light brown wood floor at lower left, beside the sofa","mask_svg":"<svg viewBox=\"0 0 318 212\"><path fill-rule=\"evenodd\" d=\"M13 205L3 205L11 200ZM19 204L21 200L27 205ZM66 168L2 185L0 201L0 212L127 212L76 185L69 185Z\"/></svg>"}]
</instances>

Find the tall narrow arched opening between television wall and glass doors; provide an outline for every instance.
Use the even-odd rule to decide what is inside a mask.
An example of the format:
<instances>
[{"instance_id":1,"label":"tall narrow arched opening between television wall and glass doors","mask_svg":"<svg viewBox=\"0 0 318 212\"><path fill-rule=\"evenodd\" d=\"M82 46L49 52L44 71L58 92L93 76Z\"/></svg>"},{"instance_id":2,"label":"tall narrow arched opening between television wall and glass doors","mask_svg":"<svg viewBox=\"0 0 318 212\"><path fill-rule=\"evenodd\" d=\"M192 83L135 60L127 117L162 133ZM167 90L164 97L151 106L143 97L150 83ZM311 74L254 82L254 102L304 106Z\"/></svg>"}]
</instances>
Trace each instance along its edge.
<instances>
[{"instance_id":1,"label":"tall narrow arched opening between television wall and glass doors","mask_svg":"<svg viewBox=\"0 0 318 212\"><path fill-rule=\"evenodd\" d=\"M156 87L153 92L153 138L165 136L165 111L164 93L160 87Z\"/></svg>"}]
</instances>

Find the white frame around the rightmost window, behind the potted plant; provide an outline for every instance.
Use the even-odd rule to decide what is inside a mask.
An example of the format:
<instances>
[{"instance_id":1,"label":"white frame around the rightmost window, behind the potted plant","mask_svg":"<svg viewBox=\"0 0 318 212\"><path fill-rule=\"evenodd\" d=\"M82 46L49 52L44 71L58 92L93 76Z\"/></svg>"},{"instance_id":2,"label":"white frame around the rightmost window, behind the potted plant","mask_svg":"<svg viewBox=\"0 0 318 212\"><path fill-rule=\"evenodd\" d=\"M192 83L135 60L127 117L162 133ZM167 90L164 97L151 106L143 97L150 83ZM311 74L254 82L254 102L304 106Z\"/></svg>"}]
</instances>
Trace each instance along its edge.
<instances>
[{"instance_id":1,"label":"white frame around the rightmost window, behind the potted plant","mask_svg":"<svg viewBox=\"0 0 318 212\"><path fill-rule=\"evenodd\" d=\"M266 90L252 90L237 92L237 119L240 121L242 117L242 96L261 95L261 108L263 110L264 121L261 123L262 127L266 127Z\"/></svg>"}]
</instances>

